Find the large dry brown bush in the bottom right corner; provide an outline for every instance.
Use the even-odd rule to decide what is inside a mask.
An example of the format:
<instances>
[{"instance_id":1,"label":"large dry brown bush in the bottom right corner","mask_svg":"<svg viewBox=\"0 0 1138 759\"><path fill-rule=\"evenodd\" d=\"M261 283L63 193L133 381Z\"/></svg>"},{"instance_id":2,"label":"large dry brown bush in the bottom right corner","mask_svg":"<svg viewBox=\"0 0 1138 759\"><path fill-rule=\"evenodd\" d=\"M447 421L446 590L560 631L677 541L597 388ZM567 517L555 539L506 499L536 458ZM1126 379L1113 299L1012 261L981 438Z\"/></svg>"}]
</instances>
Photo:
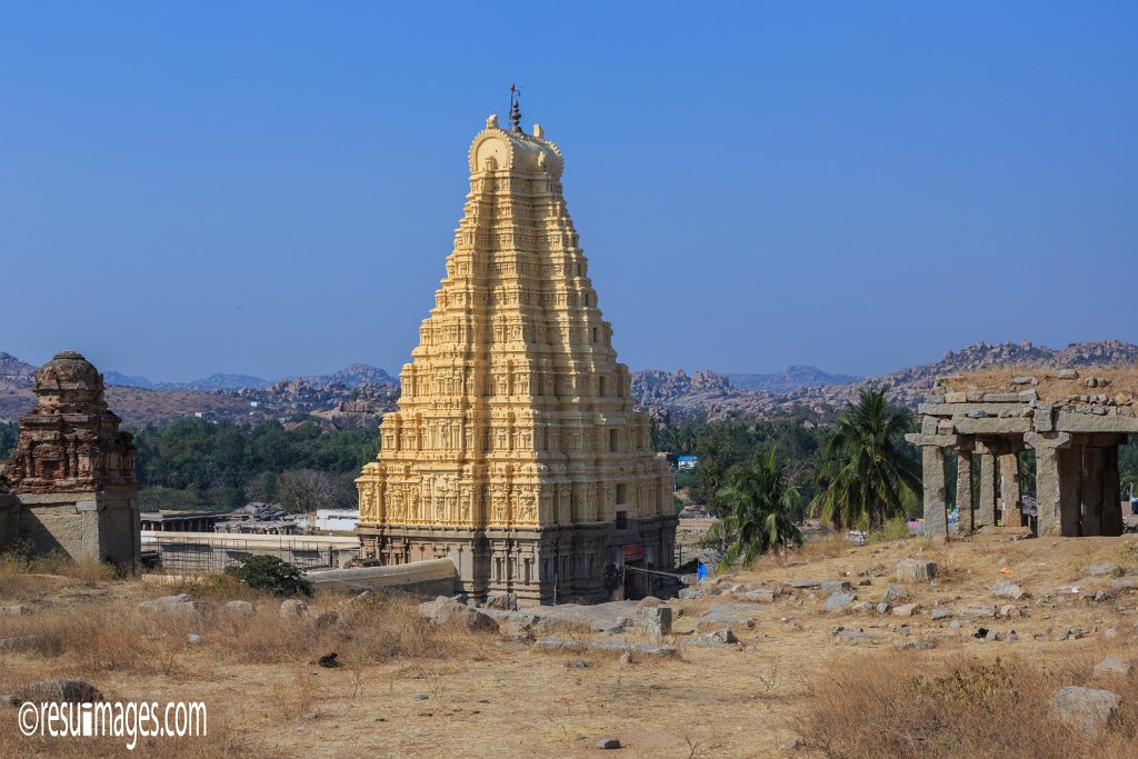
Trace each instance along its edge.
<instances>
[{"instance_id":1,"label":"large dry brown bush in the bottom right corner","mask_svg":"<svg viewBox=\"0 0 1138 759\"><path fill-rule=\"evenodd\" d=\"M1138 675L1094 683L1086 660L1048 665L993 659L954 667L880 651L834 660L801 709L799 728L827 757L1135 756ZM1123 695L1096 741L1052 716L1052 694L1065 685Z\"/></svg>"}]
</instances>

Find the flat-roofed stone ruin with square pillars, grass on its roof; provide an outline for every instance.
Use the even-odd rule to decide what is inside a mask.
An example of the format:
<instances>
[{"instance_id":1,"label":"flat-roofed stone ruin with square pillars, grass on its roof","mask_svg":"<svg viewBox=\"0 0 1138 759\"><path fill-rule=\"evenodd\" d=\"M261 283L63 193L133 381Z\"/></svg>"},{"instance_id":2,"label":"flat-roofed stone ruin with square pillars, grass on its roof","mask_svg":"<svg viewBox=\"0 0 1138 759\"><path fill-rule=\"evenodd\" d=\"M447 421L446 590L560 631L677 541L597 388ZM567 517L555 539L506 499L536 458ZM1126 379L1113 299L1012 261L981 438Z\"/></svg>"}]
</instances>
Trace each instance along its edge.
<instances>
[{"instance_id":1,"label":"flat-roofed stone ruin with square pillars, grass on its roof","mask_svg":"<svg viewBox=\"0 0 1138 759\"><path fill-rule=\"evenodd\" d=\"M948 534L946 454L955 454L951 485L963 533L996 526L999 501L1004 527L1121 535L1119 446L1138 434L1136 393L1133 369L989 371L938 380L918 407L921 432L906 436L922 451L925 534ZM1033 500L1023 493L1024 452L1034 457Z\"/></svg>"}]
</instances>

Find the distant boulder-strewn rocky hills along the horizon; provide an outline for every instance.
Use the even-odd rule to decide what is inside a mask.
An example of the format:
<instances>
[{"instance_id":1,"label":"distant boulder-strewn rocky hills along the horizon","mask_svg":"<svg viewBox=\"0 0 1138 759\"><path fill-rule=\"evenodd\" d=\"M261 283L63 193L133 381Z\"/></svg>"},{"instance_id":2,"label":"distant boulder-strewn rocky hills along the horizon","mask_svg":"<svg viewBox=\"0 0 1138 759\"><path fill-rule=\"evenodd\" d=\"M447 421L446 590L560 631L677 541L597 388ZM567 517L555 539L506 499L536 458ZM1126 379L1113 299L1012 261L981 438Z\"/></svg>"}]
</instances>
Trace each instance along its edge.
<instances>
[{"instance_id":1,"label":"distant boulder-strewn rocky hills along the horizon","mask_svg":"<svg viewBox=\"0 0 1138 759\"><path fill-rule=\"evenodd\" d=\"M930 364L909 366L882 377L850 381L849 376L827 374L793 366L777 374L734 376L764 387L740 387L727 374L714 371L633 372L636 406L654 419L724 419L732 415L759 419L797 418L826 422L857 398L866 385L890 388L898 402L915 407L938 377L1000 366L1087 366L1138 364L1138 346L1120 340L1077 343L1062 349L1031 343L978 343L949 350ZM13 421L35 403L32 378L35 368L0 353L0 421ZM114 383L122 376L108 372ZM759 379L756 379L759 378ZM826 385L817 386L822 378ZM126 378L145 380L145 378ZM801 381L795 387L789 387ZM242 387L233 385L246 383ZM783 388L783 389L766 389ZM352 364L331 374L266 382L255 377L215 374L206 380L168 387L110 387L108 401L126 426L164 423L180 416L258 422L307 414L338 427L373 426L396 407L397 382L378 366Z\"/></svg>"}]
</instances>

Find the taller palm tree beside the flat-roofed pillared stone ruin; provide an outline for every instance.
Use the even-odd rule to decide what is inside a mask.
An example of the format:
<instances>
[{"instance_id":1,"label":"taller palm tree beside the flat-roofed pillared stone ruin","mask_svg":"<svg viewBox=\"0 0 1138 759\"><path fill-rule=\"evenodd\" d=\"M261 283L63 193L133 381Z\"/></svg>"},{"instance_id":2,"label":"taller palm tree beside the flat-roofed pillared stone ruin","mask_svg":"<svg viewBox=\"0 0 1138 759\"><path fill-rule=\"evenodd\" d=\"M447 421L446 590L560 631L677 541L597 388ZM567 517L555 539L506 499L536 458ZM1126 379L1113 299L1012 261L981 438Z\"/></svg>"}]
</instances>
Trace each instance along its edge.
<instances>
[{"instance_id":1,"label":"taller palm tree beside the flat-roofed pillared stone ruin","mask_svg":"<svg viewBox=\"0 0 1138 759\"><path fill-rule=\"evenodd\" d=\"M810 504L835 527L876 527L901 513L902 502L921 488L915 462L905 455L902 435L913 429L908 409L893 406L887 388L861 388L822 446L818 484Z\"/></svg>"}]
</instances>

